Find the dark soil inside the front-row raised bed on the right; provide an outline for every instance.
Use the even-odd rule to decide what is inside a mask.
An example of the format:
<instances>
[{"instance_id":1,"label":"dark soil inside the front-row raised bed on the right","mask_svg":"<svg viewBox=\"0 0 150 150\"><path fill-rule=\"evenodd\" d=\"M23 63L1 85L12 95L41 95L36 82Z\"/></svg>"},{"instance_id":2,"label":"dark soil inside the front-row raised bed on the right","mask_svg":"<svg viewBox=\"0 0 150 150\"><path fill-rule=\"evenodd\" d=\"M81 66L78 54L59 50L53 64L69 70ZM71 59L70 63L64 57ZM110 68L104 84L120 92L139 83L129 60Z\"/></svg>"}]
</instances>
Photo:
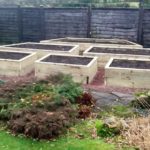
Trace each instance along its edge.
<instances>
[{"instance_id":1,"label":"dark soil inside the front-row raised bed on the right","mask_svg":"<svg viewBox=\"0 0 150 150\"><path fill-rule=\"evenodd\" d=\"M114 59L110 67L150 69L150 61Z\"/></svg>"}]
</instances>

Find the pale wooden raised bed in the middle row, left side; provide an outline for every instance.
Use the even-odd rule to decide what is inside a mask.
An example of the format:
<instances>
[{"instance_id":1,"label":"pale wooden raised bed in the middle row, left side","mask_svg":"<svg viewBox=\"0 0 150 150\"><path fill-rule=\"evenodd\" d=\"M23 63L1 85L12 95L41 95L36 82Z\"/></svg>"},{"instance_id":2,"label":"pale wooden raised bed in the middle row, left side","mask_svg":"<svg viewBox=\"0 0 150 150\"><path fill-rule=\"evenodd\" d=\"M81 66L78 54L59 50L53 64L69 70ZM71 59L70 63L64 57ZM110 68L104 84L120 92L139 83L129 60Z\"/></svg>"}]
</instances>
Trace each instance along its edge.
<instances>
[{"instance_id":1,"label":"pale wooden raised bed in the middle row, left side","mask_svg":"<svg viewBox=\"0 0 150 150\"><path fill-rule=\"evenodd\" d=\"M5 47L11 47L18 51L30 51L37 52L38 58L43 57L49 53L61 53L61 54L79 54L79 46L72 44L40 44L40 43L19 43L6 45Z\"/></svg>"}]
</instances>

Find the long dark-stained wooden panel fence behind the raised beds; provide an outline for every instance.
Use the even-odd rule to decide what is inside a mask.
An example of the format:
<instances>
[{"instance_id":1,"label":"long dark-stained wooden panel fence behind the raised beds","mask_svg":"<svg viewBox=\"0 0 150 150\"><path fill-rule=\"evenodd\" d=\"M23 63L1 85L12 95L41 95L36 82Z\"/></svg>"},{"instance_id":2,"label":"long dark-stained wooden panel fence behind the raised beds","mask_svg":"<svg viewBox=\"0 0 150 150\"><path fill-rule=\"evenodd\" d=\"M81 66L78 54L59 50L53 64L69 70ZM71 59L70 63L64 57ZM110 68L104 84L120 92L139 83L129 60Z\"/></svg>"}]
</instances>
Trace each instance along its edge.
<instances>
[{"instance_id":1,"label":"long dark-stained wooden panel fence behind the raised beds","mask_svg":"<svg viewBox=\"0 0 150 150\"><path fill-rule=\"evenodd\" d=\"M123 38L150 46L150 9L0 8L0 42Z\"/></svg>"}]
</instances>

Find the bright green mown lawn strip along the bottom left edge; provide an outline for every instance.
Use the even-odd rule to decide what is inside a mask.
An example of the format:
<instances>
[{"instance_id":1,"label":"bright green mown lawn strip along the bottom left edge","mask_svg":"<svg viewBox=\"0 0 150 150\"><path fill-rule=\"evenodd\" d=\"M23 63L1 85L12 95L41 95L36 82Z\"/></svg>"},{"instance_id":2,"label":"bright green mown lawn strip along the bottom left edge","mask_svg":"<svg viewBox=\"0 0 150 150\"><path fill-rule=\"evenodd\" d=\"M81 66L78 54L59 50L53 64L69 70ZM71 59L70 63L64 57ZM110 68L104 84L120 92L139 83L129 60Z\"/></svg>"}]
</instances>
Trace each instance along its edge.
<instances>
[{"instance_id":1,"label":"bright green mown lawn strip along the bottom left edge","mask_svg":"<svg viewBox=\"0 0 150 150\"><path fill-rule=\"evenodd\" d=\"M2 150L115 150L115 146L102 140L64 137L56 141L35 141L24 137L14 137L0 131Z\"/></svg>"}]
</instances>

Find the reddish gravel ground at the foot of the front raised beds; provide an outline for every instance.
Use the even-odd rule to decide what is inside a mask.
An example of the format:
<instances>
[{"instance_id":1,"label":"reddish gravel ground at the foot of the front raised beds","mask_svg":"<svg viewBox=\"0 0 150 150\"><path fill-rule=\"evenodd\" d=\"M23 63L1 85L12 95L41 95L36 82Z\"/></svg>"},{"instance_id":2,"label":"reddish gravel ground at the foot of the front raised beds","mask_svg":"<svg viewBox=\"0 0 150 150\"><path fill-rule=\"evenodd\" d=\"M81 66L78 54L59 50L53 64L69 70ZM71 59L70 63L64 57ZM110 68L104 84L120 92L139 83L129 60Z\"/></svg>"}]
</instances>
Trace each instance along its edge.
<instances>
[{"instance_id":1,"label":"reddish gravel ground at the foot of the front raised beds","mask_svg":"<svg viewBox=\"0 0 150 150\"><path fill-rule=\"evenodd\" d=\"M104 84L105 78L105 71L104 68L100 68L95 76L93 82L91 84L83 85L85 90L95 90L99 92L121 92L121 93L134 93L134 92L141 92L145 91L146 89L133 89L133 88L118 88L118 87L108 87ZM15 91L16 88L20 86L24 86L30 83L34 83L36 81L34 77L34 72L28 74L23 77L2 77L0 76L0 80L5 81L4 85L0 85L0 97L2 96L1 93L5 93L5 95L9 95L8 93Z\"/></svg>"}]
</instances>

